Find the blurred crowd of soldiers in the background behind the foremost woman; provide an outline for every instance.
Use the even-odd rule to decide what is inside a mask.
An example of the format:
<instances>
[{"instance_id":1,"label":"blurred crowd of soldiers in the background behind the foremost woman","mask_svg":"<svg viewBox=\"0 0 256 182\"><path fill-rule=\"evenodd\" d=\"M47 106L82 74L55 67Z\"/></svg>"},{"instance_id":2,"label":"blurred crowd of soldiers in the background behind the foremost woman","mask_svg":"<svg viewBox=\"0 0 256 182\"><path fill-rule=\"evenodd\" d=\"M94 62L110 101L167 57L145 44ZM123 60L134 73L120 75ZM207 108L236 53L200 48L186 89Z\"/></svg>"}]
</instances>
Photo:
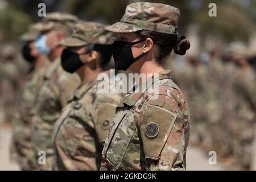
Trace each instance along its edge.
<instances>
[{"instance_id":1,"label":"blurred crowd of soldiers in the background behind the foremost woman","mask_svg":"<svg viewBox=\"0 0 256 182\"><path fill-rule=\"evenodd\" d=\"M239 49L238 49L239 48ZM216 49L207 63L187 59L173 64L174 81L191 112L190 144L216 151L225 169L255 169L256 75L253 52L241 46Z\"/></svg>"}]
</instances>

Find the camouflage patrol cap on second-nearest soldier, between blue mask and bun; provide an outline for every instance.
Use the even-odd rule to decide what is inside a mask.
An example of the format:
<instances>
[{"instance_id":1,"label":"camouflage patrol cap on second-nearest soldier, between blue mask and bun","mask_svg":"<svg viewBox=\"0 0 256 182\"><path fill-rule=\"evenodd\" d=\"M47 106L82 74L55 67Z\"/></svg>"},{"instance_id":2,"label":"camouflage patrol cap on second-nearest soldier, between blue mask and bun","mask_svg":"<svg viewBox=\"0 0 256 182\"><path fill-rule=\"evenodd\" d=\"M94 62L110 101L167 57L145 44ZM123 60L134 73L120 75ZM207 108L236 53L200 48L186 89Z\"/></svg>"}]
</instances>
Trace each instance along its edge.
<instances>
[{"instance_id":1,"label":"camouflage patrol cap on second-nearest soldier, between blue mask and bun","mask_svg":"<svg viewBox=\"0 0 256 182\"><path fill-rule=\"evenodd\" d=\"M68 47L86 46L87 44L112 44L116 36L105 30L105 25L94 22L77 23L73 34L59 43Z\"/></svg>"}]
</instances>

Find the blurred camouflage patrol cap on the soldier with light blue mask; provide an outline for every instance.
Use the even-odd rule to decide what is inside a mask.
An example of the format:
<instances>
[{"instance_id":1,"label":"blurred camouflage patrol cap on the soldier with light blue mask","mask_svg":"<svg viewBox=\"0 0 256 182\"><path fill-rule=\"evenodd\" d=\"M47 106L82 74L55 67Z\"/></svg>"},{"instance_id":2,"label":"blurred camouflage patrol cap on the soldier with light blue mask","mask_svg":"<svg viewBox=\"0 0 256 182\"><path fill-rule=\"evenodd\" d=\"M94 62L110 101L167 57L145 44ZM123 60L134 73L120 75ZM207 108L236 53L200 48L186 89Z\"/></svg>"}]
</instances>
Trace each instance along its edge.
<instances>
[{"instance_id":1,"label":"blurred camouflage patrol cap on the soldier with light blue mask","mask_svg":"<svg viewBox=\"0 0 256 182\"><path fill-rule=\"evenodd\" d=\"M77 16L72 14L52 12L46 14L46 17L42 21L42 25L38 28L39 31L53 29L70 31L78 20Z\"/></svg>"}]
</instances>

